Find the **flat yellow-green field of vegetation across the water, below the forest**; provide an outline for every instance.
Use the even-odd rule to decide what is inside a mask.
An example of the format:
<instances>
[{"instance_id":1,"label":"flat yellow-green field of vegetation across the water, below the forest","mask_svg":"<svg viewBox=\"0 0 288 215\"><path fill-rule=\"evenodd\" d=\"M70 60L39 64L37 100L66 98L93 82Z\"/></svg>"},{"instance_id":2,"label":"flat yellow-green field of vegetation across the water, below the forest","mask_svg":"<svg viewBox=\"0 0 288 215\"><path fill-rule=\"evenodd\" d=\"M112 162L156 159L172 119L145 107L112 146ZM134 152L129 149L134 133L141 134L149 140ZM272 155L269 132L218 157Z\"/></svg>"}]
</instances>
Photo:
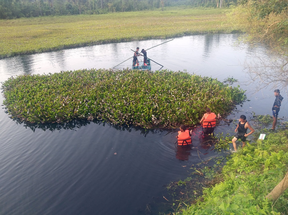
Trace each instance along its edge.
<instances>
[{"instance_id":1,"label":"flat yellow-green field of vegetation across the water, below the forest","mask_svg":"<svg viewBox=\"0 0 288 215\"><path fill-rule=\"evenodd\" d=\"M106 42L232 32L226 9L169 9L0 20L0 57Z\"/></svg>"}]
</instances>

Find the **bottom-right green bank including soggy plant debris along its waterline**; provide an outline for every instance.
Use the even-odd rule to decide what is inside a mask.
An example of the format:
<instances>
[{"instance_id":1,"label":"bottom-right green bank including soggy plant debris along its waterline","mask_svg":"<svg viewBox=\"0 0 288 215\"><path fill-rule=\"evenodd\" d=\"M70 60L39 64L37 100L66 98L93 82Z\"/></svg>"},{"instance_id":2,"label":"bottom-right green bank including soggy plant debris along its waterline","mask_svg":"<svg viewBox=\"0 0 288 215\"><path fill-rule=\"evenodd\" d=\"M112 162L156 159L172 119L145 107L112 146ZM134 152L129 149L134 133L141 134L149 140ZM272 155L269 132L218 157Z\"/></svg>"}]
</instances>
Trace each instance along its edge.
<instances>
[{"instance_id":1,"label":"bottom-right green bank including soggy plant debris along its waterline","mask_svg":"<svg viewBox=\"0 0 288 215\"><path fill-rule=\"evenodd\" d=\"M258 133L267 139L257 140L255 134L254 141L229 155L227 162L219 158L212 166L210 161L192 166L191 174L200 178L170 183L166 198L172 199L173 212L166 214L287 214L288 190L274 202L266 196L287 172L288 130Z\"/></svg>"}]
</instances>

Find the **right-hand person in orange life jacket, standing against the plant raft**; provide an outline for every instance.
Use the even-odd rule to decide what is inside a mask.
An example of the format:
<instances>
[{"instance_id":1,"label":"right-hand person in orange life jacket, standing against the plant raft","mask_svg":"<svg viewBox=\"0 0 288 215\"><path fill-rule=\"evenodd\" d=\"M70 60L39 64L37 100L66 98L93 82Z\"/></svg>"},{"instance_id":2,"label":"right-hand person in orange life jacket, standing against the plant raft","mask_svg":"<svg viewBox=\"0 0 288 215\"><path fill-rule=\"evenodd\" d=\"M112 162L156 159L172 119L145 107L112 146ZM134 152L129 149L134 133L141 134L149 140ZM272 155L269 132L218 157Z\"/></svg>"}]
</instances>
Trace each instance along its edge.
<instances>
[{"instance_id":1,"label":"right-hand person in orange life jacket, standing against the plant raft","mask_svg":"<svg viewBox=\"0 0 288 215\"><path fill-rule=\"evenodd\" d=\"M216 114L211 113L211 109L207 107L206 114L204 114L204 116L200 120L200 124L202 124L204 134L211 134L214 132L216 126L216 119L220 119L220 114L216 116Z\"/></svg>"}]
</instances>

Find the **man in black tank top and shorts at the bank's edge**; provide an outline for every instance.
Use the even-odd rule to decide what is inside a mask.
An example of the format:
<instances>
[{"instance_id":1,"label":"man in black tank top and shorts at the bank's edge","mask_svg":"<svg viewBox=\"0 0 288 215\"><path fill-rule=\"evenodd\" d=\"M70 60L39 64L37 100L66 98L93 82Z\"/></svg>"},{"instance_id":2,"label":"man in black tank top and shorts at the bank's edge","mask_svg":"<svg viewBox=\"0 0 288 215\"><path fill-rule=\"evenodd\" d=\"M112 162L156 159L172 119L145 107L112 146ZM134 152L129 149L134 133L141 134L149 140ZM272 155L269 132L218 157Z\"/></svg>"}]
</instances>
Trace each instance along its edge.
<instances>
[{"instance_id":1,"label":"man in black tank top and shorts at the bank's edge","mask_svg":"<svg viewBox=\"0 0 288 215\"><path fill-rule=\"evenodd\" d=\"M251 132L247 134L247 129L248 128L249 128L249 130L251 130ZM238 140L238 139L242 140L242 148L243 148L245 146L245 144L246 144L246 137L248 135L252 134L254 131L255 130L251 127L249 122L247 122L246 116L245 115L241 115L239 123L237 125L237 128L235 129L235 132L237 132L237 134L232 139L234 150L237 151L236 140Z\"/></svg>"}]
</instances>

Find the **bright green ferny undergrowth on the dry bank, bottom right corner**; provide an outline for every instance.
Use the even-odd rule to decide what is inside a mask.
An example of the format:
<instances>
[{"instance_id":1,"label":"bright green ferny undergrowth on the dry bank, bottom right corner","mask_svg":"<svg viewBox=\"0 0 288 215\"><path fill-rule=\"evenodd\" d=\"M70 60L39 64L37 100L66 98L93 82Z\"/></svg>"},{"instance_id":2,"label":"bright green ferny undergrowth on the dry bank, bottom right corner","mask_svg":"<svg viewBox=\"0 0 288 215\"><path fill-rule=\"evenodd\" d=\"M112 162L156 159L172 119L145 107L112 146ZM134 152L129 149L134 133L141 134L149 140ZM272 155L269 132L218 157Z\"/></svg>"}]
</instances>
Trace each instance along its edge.
<instances>
[{"instance_id":1,"label":"bright green ferny undergrowth on the dry bank, bottom right corner","mask_svg":"<svg viewBox=\"0 0 288 215\"><path fill-rule=\"evenodd\" d=\"M179 214L287 214L288 190L276 202L265 197L287 173L288 130L267 135L230 155L218 182Z\"/></svg>"}]
</instances>

